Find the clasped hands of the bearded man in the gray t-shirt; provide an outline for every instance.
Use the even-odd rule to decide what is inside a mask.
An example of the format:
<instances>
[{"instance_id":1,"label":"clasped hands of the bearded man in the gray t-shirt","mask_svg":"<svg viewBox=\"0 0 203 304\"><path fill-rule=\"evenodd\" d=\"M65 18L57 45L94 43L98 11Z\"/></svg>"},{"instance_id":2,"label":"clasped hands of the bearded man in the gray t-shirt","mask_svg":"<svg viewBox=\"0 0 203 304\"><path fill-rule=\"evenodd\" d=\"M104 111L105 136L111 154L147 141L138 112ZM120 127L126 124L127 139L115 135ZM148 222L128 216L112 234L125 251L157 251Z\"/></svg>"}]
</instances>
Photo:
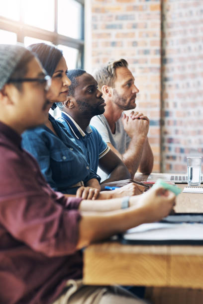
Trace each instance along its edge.
<instances>
[{"instance_id":1,"label":"clasped hands of the bearded man in the gray t-shirt","mask_svg":"<svg viewBox=\"0 0 203 304\"><path fill-rule=\"evenodd\" d=\"M141 113L142 114L142 113ZM140 117L146 117L141 115ZM122 116L123 128L127 135L132 139L146 139L149 131L149 119L131 118L125 114Z\"/></svg>"}]
</instances>

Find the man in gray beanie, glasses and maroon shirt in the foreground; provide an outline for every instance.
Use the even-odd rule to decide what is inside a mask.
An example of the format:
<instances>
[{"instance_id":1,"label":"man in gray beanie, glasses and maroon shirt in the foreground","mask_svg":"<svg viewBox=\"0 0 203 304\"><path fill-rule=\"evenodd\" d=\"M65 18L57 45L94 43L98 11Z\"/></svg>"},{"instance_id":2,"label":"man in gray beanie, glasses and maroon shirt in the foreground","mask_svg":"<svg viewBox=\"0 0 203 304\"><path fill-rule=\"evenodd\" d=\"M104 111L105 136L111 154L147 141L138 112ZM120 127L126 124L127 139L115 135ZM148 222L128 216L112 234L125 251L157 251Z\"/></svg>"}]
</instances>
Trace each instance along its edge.
<instances>
[{"instance_id":1,"label":"man in gray beanie, glasses and maroon shirt in the foreground","mask_svg":"<svg viewBox=\"0 0 203 304\"><path fill-rule=\"evenodd\" d=\"M91 200L54 192L20 136L47 119L50 84L29 51L0 45L0 303L143 303L118 287L84 286L80 249L165 217L175 196L152 189L124 207L98 200L93 212Z\"/></svg>"}]
</instances>

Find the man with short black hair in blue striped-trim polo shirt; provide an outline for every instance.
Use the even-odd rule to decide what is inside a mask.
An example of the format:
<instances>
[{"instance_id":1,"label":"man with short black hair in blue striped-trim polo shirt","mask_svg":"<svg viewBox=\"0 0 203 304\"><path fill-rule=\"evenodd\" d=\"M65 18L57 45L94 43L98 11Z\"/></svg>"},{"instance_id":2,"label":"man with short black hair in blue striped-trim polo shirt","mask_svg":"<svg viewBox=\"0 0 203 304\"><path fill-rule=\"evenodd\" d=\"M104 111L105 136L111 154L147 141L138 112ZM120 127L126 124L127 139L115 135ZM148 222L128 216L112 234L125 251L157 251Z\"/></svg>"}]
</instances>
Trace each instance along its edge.
<instances>
[{"instance_id":1,"label":"man with short black hair in blue striped-trim polo shirt","mask_svg":"<svg viewBox=\"0 0 203 304\"><path fill-rule=\"evenodd\" d=\"M108 176L105 183L130 178L126 166L103 142L97 129L89 126L93 116L104 112L105 102L97 81L80 69L69 70L67 76L72 84L68 100L57 103L62 111L59 121L66 127L70 138L82 148L91 169L97 172L99 165L106 178Z\"/></svg>"}]
</instances>

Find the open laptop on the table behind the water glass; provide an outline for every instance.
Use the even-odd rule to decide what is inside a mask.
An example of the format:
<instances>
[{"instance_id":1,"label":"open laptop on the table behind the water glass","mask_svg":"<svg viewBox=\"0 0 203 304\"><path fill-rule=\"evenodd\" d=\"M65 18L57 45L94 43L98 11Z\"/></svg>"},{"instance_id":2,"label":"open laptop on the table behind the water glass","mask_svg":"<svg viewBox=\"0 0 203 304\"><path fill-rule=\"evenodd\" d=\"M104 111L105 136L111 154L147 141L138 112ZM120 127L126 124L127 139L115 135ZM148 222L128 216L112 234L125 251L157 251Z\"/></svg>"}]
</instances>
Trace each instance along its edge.
<instances>
[{"instance_id":1,"label":"open laptop on the table behind the water glass","mask_svg":"<svg viewBox=\"0 0 203 304\"><path fill-rule=\"evenodd\" d=\"M176 174L176 173L151 173L147 181L156 181L158 178L164 181L174 182L177 184L187 184L188 176L187 174ZM203 176L201 176L201 183L203 183Z\"/></svg>"}]
</instances>

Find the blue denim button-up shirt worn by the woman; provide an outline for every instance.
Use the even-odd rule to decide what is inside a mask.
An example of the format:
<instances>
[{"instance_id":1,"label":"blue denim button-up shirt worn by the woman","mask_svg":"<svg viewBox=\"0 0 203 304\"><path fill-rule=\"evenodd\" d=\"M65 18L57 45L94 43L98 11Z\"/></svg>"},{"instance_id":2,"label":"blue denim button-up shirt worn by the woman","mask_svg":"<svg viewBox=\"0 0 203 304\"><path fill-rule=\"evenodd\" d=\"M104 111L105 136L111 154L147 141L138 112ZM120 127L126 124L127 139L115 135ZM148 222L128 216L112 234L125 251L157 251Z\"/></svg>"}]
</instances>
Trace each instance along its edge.
<instances>
[{"instance_id":1,"label":"blue denim button-up shirt worn by the woman","mask_svg":"<svg viewBox=\"0 0 203 304\"><path fill-rule=\"evenodd\" d=\"M38 161L46 181L55 190L75 194L80 181L100 177L92 169L81 148L70 140L64 126L49 114L49 120L58 136L42 125L22 134L22 147Z\"/></svg>"}]
</instances>

